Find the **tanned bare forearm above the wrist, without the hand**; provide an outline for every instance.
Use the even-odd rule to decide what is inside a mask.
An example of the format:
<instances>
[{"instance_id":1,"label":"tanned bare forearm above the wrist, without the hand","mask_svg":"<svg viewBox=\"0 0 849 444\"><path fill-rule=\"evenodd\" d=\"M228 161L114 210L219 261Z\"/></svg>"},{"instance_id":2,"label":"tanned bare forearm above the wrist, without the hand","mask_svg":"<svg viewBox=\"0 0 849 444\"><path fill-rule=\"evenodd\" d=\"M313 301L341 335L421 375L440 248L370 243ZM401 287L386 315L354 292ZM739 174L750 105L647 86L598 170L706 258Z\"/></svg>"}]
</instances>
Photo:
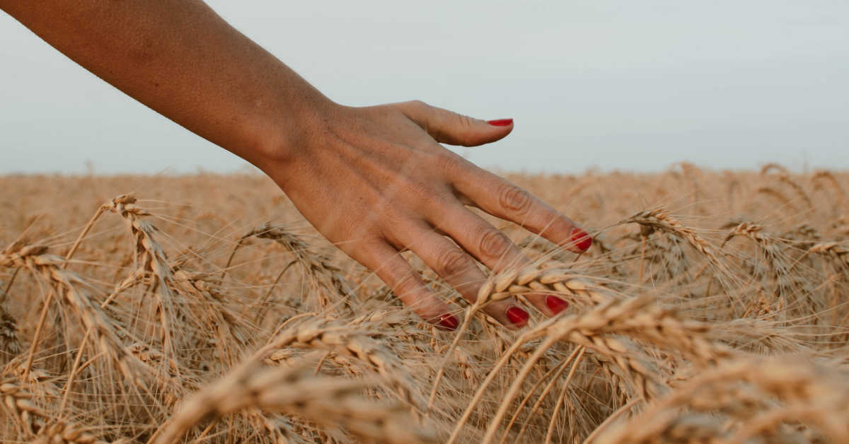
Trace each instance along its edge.
<instances>
[{"instance_id":1,"label":"tanned bare forearm above the wrist, without the hand","mask_svg":"<svg viewBox=\"0 0 849 444\"><path fill-rule=\"evenodd\" d=\"M332 103L196 0L0 0L76 63L262 167ZM297 130L297 132L296 132Z\"/></svg>"}]
</instances>

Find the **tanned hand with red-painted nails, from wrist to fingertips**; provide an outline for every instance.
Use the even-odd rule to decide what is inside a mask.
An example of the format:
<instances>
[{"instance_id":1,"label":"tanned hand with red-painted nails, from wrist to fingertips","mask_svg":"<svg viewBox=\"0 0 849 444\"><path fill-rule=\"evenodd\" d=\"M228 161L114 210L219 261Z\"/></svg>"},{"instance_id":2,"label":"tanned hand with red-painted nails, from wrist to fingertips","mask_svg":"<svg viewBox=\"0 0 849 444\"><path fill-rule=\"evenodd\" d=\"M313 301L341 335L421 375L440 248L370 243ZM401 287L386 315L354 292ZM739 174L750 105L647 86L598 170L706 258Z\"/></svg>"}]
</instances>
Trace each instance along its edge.
<instances>
[{"instance_id":1,"label":"tanned hand with red-painted nails, from wrist to fingertips","mask_svg":"<svg viewBox=\"0 0 849 444\"><path fill-rule=\"evenodd\" d=\"M280 147L263 170L320 233L443 329L455 329L457 318L400 251L412 250L468 301L475 301L486 280L473 257L497 272L530 263L504 233L465 205L575 252L592 244L568 217L439 144L494 142L513 130L512 121L480 121L419 101L329 105L320 114L298 146ZM566 306L553 295L527 299L548 316ZM485 311L510 329L528 319L512 298Z\"/></svg>"}]
</instances>

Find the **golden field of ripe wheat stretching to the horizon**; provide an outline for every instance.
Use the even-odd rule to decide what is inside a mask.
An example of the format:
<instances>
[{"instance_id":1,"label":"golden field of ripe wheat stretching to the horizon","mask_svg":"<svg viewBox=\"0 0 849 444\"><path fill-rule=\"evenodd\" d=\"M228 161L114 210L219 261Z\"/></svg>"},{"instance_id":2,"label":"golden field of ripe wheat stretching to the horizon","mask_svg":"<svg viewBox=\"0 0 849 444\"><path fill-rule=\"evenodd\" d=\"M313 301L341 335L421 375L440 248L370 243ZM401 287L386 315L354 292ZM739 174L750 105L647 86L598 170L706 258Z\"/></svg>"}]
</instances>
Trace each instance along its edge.
<instances>
[{"instance_id":1,"label":"golden field of ripe wheat stretching to the horizon","mask_svg":"<svg viewBox=\"0 0 849 444\"><path fill-rule=\"evenodd\" d=\"M487 216L534 265L477 301L405 253L456 332L267 177L0 177L0 442L849 442L849 174L508 177L593 246Z\"/></svg>"}]
</instances>

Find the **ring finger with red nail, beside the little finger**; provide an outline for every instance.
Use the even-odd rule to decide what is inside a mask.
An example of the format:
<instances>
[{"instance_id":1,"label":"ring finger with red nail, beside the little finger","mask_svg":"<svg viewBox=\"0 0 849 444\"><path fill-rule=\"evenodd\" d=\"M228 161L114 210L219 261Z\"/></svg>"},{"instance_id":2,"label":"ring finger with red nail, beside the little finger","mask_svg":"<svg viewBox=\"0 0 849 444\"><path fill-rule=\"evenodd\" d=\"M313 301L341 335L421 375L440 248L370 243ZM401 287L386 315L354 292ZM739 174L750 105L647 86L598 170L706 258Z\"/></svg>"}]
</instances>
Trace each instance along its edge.
<instances>
[{"instance_id":1,"label":"ring finger with red nail, beside the little finger","mask_svg":"<svg viewBox=\"0 0 849 444\"><path fill-rule=\"evenodd\" d=\"M477 263L456 244L427 227L424 222L418 228L404 230L408 238L404 244L421 258L436 274L470 302L477 300L478 290L486 281ZM528 321L528 313L518 301L509 298L494 301L483 309L509 329L520 329Z\"/></svg>"}]
</instances>

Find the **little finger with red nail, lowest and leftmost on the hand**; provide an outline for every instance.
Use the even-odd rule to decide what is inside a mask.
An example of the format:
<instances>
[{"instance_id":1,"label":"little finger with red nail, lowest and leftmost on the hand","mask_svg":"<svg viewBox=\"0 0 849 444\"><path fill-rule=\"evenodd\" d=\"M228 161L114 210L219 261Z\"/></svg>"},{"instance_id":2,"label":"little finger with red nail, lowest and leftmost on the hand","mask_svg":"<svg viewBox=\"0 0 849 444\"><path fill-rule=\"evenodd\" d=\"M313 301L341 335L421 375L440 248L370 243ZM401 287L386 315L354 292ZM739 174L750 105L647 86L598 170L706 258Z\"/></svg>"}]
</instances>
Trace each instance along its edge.
<instances>
[{"instance_id":1,"label":"little finger with red nail, lowest and leftmost on the hand","mask_svg":"<svg viewBox=\"0 0 849 444\"><path fill-rule=\"evenodd\" d=\"M384 241L374 241L364 250L359 251L359 260L374 270L404 305L441 329L457 329L459 321L451 314L451 309L427 288L419 273L395 248Z\"/></svg>"}]
</instances>

